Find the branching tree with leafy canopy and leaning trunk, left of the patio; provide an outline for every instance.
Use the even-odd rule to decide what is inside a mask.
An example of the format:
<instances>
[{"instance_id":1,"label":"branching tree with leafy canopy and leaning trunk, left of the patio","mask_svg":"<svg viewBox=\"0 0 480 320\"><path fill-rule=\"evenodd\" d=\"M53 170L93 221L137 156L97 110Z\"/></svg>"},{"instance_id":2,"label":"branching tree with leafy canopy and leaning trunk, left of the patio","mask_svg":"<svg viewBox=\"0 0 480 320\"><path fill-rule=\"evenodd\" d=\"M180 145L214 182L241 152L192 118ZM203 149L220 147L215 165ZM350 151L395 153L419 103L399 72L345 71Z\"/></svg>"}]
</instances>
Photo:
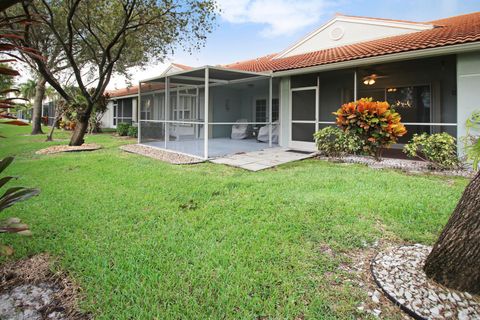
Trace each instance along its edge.
<instances>
[{"instance_id":1,"label":"branching tree with leafy canopy and leaning trunk, left of the patio","mask_svg":"<svg viewBox=\"0 0 480 320\"><path fill-rule=\"evenodd\" d=\"M113 73L162 60L178 47L200 48L214 27L215 0L36 0L23 1L22 8L40 21L26 26L25 45L39 49L35 32L53 36L76 86L85 98L70 144L83 142L94 104L103 95ZM40 74L69 103L64 83L45 59L33 57Z\"/></svg>"}]
</instances>

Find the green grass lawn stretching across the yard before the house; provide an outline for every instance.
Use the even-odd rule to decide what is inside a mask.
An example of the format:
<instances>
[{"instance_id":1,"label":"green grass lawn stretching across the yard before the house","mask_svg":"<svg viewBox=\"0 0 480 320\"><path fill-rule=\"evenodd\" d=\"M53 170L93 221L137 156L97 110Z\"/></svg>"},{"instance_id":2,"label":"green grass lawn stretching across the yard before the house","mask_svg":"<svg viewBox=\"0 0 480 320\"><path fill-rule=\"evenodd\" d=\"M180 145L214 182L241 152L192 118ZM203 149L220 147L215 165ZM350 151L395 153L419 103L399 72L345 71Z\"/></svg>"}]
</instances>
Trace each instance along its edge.
<instances>
[{"instance_id":1,"label":"green grass lawn stretching across the yard before the house","mask_svg":"<svg viewBox=\"0 0 480 320\"><path fill-rule=\"evenodd\" d=\"M377 239L432 243L467 184L318 160L174 166L122 152L131 141L111 134L87 137L100 151L39 156L43 137L6 127L7 173L41 194L3 213L34 236L2 241L14 259L59 257L97 319L353 318L366 294L325 273Z\"/></svg>"}]
</instances>

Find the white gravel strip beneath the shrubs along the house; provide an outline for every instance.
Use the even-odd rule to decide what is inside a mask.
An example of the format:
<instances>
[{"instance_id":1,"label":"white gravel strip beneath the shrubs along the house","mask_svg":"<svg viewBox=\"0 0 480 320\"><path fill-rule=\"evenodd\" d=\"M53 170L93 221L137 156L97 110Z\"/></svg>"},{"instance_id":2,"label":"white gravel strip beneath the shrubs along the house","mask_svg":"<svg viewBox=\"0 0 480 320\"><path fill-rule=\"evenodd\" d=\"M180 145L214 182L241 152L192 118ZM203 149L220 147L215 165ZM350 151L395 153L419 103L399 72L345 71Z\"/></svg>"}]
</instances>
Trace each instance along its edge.
<instances>
[{"instance_id":1,"label":"white gravel strip beneath the shrubs along the house","mask_svg":"<svg viewBox=\"0 0 480 320\"><path fill-rule=\"evenodd\" d=\"M374 169L398 169L410 173L431 173L436 175L459 176L466 178L472 178L475 175L475 172L468 168L459 168L457 170L432 170L429 168L428 162L417 160L382 158L377 161L373 157L355 155L344 156L340 158L319 156L318 158L328 161L333 160L344 163L364 164Z\"/></svg>"}]
</instances>

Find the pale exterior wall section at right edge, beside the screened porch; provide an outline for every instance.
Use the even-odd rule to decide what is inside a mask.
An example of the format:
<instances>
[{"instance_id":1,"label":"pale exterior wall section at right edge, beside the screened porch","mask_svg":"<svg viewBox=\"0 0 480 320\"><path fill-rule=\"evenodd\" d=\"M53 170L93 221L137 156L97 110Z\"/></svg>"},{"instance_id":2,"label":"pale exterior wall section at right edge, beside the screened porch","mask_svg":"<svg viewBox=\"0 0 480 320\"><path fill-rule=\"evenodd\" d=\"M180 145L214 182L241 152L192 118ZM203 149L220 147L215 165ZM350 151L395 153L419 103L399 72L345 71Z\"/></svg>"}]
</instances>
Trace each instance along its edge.
<instances>
[{"instance_id":1,"label":"pale exterior wall section at right edge, beside the screened porch","mask_svg":"<svg viewBox=\"0 0 480 320\"><path fill-rule=\"evenodd\" d=\"M480 52L457 56L457 140L466 135L465 121L480 110ZM458 144L459 154L463 153Z\"/></svg>"}]
</instances>

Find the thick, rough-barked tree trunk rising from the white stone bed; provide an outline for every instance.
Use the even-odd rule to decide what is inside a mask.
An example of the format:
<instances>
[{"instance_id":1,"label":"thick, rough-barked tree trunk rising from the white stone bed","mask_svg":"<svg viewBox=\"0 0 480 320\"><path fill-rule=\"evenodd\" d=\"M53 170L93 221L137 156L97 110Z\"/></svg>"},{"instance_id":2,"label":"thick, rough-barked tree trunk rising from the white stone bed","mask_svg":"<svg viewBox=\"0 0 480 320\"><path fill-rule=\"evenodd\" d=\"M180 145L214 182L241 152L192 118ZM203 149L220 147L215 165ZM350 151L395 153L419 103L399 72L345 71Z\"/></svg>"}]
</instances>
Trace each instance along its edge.
<instances>
[{"instance_id":1,"label":"thick, rough-barked tree trunk rising from the white stone bed","mask_svg":"<svg viewBox=\"0 0 480 320\"><path fill-rule=\"evenodd\" d=\"M480 172L463 192L424 270L446 287L480 294Z\"/></svg>"}]
</instances>

